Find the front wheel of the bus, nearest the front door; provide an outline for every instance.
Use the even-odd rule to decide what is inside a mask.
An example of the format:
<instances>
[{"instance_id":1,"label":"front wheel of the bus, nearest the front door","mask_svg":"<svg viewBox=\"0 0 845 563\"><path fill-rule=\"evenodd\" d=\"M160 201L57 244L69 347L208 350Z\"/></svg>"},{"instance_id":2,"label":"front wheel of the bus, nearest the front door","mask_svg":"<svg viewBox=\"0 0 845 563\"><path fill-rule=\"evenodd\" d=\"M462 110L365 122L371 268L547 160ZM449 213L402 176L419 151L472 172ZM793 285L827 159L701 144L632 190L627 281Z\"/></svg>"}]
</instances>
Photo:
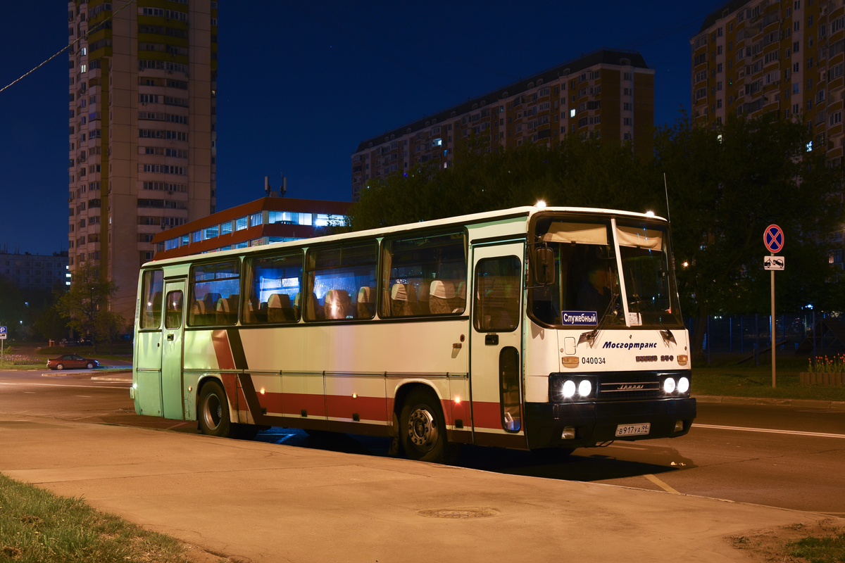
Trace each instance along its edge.
<instances>
[{"instance_id":1,"label":"front wheel of the bus, nearest the front door","mask_svg":"<svg viewBox=\"0 0 845 563\"><path fill-rule=\"evenodd\" d=\"M399 420L399 438L409 458L420 462L455 462L460 445L446 439L443 410L433 392L417 387L408 393Z\"/></svg>"}]
</instances>

